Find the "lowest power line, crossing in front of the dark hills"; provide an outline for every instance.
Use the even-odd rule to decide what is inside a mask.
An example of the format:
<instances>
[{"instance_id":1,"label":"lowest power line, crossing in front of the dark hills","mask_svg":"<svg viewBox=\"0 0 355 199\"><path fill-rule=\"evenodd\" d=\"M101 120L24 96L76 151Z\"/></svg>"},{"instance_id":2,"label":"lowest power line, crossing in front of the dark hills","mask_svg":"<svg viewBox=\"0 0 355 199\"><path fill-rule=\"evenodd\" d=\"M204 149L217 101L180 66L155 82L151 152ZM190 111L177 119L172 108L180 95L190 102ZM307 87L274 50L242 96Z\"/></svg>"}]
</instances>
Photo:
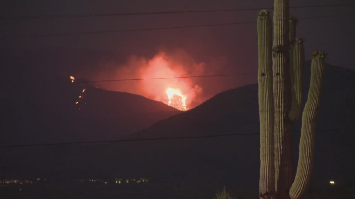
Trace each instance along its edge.
<instances>
[{"instance_id":1,"label":"lowest power line, crossing in front of the dark hills","mask_svg":"<svg viewBox=\"0 0 355 199\"><path fill-rule=\"evenodd\" d=\"M339 129L319 129L316 131L338 131L338 130L355 130L355 128L339 128ZM298 131L299 132L299 131ZM226 136L243 136L243 135L260 135L260 133L228 133L220 135L201 135L201 136L181 136L181 137L158 137L158 138L137 138L127 140L106 140L106 141L88 141L88 142L61 142L61 143L39 143L39 144L17 144L17 145L3 145L0 148L15 148L15 147L34 147L34 146L58 146L58 145L72 145L72 144L98 144L98 143L117 143L117 142L136 142L136 141L155 141L155 140L180 140L193 138L210 138L210 137L226 137Z\"/></svg>"}]
</instances>

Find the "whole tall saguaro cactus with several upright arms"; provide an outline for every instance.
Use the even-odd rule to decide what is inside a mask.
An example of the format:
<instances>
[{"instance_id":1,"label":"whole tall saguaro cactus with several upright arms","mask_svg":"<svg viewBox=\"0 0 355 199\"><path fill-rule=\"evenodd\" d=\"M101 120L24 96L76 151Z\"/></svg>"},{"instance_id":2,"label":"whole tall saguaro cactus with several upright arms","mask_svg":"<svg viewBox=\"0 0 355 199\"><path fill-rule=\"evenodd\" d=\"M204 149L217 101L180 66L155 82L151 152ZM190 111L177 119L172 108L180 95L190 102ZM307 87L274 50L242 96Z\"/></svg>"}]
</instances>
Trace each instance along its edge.
<instances>
[{"instance_id":1,"label":"whole tall saguaro cactus with several upright arms","mask_svg":"<svg viewBox=\"0 0 355 199\"><path fill-rule=\"evenodd\" d=\"M324 53L313 53L295 175L291 133L301 116L304 66L303 40L295 39L296 23L289 19L288 0L275 0L271 45L270 15L266 10L258 13L260 199L299 199L310 182Z\"/></svg>"}]
</instances>

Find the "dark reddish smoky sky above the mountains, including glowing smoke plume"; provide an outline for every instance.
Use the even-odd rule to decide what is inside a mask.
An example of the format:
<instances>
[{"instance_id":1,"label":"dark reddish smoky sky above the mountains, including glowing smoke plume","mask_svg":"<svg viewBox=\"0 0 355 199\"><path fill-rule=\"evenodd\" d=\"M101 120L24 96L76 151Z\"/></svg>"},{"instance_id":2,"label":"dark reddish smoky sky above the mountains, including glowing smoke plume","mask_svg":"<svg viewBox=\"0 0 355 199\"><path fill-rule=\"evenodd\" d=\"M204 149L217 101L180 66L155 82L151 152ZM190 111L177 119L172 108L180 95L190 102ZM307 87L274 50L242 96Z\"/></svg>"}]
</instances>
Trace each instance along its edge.
<instances>
[{"instance_id":1,"label":"dark reddish smoky sky above the mountains, including glowing smoke plume","mask_svg":"<svg viewBox=\"0 0 355 199\"><path fill-rule=\"evenodd\" d=\"M354 3L351 0L300 0L290 6ZM201 1L201 0L39 0L3 1L3 16L78 15L122 12L164 12L273 7L273 1ZM159 101L166 101L168 87L187 96L188 108L195 107L223 90L255 83L257 71L256 23L219 25L149 31L100 34L74 34L39 37L4 37L47 35L110 30L150 29L190 25L256 21L258 10L238 12L176 13L110 17L74 17L46 19L2 19L0 47L18 49L92 49L110 52L93 66L80 66L77 76L91 80L156 78L214 74L245 74L232 77L99 83L104 89L126 91ZM348 6L291 9L298 18L354 14ZM354 18L340 16L300 19L297 37L305 38L305 57L313 50L325 50L327 62L355 70ZM63 66L65 68L65 66ZM60 68L59 68L60 70ZM251 74L249 74L251 73Z\"/></svg>"}]
</instances>

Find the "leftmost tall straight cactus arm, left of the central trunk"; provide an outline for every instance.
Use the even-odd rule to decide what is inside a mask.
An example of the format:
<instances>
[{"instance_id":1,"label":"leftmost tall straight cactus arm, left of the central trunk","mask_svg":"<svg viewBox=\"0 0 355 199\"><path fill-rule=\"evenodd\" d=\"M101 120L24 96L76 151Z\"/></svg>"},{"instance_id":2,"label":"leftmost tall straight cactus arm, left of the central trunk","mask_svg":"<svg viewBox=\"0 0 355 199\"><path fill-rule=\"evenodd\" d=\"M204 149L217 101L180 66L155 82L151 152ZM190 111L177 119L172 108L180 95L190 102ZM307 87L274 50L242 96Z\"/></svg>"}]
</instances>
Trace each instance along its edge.
<instances>
[{"instance_id":1,"label":"leftmost tall straight cactus arm, left of the central trunk","mask_svg":"<svg viewBox=\"0 0 355 199\"><path fill-rule=\"evenodd\" d=\"M269 12L262 10L257 18L258 33L258 99L260 118L260 199L275 197L274 102L272 91L272 27Z\"/></svg>"}]
</instances>

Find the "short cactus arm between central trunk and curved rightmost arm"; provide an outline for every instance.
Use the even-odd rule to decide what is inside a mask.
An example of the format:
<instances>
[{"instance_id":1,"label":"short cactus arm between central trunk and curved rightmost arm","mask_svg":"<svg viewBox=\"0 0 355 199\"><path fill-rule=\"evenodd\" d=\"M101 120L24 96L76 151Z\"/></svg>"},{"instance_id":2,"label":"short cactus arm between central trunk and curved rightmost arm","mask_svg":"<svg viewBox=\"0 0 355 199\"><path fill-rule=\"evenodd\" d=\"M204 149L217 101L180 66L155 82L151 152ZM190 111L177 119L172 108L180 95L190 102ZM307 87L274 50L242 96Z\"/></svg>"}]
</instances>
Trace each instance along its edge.
<instances>
[{"instance_id":1,"label":"short cactus arm between central trunk and curved rightmost arm","mask_svg":"<svg viewBox=\"0 0 355 199\"><path fill-rule=\"evenodd\" d=\"M294 41L292 49L292 59L290 61L290 76L292 86L292 101L289 118L291 122L296 122L301 118L302 112L302 91L303 91L303 68L304 68L304 47L303 39Z\"/></svg>"}]
</instances>

